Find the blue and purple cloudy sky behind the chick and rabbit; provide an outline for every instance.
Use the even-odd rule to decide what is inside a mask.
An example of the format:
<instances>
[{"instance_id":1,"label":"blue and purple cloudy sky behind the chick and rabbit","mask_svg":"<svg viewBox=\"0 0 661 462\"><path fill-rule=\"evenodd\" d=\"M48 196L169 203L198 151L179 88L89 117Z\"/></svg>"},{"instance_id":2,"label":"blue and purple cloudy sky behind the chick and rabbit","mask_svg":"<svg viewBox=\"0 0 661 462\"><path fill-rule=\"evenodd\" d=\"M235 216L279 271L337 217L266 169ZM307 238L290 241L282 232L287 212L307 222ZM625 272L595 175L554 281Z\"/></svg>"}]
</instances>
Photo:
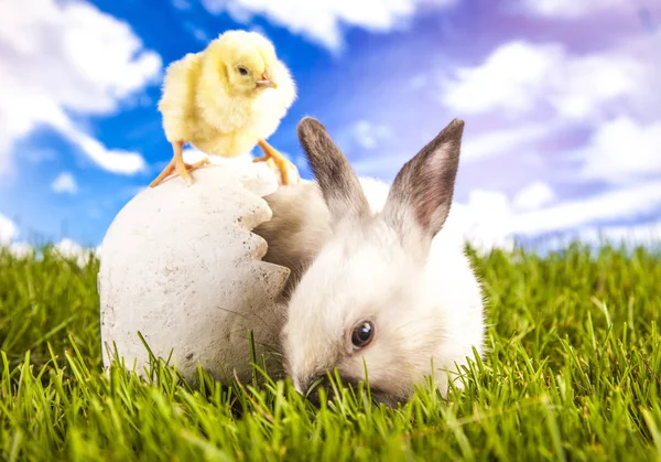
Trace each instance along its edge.
<instances>
[{"instance_id":1,"label":"blue and purple cloudy sky behind the chick and rabbit","mask_svg":"<svg viewBox=\"0 0 661 462\"><path fill-rule=\"evenodd\" d=\"M2 244L99 245L171 158L164 67L229 29L291 68L269 141L304 178L303 116L388 182L460 117L474 241L661 239L658 0L2 0L0 18Z\"/></svg>"}]
</instances>

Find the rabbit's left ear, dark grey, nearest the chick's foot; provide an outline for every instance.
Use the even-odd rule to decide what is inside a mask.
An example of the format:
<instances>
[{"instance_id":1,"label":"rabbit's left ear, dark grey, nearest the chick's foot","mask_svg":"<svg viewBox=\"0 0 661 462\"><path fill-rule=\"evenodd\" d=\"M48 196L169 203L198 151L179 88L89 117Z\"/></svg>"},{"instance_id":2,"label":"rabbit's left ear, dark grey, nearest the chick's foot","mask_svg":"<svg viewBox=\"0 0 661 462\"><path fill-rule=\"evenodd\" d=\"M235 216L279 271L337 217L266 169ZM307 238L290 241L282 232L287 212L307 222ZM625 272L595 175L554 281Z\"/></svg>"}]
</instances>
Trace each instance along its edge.
<instances>
[{"instance_id":1,"label":"rabbit's left ear, dark grey, nearest the chick's foot","mask_svg":"<svg viewBox=\"0 0 661 462\"><path fill-rule=\"evenodd\" d=\"M358 178L326 128L305 117L299 122L299 140L330 211L332 223L367 215L369 205Z\"/></svg>"}]
</instances>

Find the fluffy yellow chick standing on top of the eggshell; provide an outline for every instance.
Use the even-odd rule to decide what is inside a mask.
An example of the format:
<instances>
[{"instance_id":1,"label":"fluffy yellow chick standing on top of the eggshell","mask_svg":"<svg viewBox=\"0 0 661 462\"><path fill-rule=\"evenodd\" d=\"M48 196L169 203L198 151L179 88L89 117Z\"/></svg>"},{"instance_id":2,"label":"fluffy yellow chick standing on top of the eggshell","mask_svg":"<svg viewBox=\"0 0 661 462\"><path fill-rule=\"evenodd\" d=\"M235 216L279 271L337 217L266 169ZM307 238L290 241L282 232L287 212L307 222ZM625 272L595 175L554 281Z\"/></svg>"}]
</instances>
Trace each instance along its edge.
<instances>
[{"instance_id":1,"label":"fluffy yellow chick standing on top of the eggshell","mask_svg":"<svg viewBox=\"0 0 661 462\"><path fill-rule=\"evenodd\" d=\"M297 181L291 162L267 143L296 98L296 86L273 44L256 32L227 31L199 53L172 63L163 84L159 110L174 155L151 183L156 186L176 172L186 184L191 171L208 163L184 163L186 142L207 154L231 158L256 144L282 173L282 182ZM292 173L293 174L290 174ZM292 178L293 176L293 178Z\"/></svg>"}]
</instances>

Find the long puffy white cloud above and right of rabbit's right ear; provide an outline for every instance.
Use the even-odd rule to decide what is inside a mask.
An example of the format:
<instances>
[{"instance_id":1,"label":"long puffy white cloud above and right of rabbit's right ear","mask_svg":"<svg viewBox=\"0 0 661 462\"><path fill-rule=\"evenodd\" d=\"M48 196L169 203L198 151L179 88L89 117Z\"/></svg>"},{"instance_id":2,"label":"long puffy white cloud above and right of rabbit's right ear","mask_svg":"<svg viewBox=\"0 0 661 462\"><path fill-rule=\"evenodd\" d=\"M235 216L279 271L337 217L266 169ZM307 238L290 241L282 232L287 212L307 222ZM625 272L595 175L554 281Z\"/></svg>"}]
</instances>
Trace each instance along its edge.
<instances>
[{"instance_id":1,"label":"long puffy white cloud above and right of rabbit's right ear","mask_svg":"<svg viewBox=\"0 0 661 462\"><path fill-rule=\"evenodd\" d=\"M626 98L643 97L648 76L643 63L615 51L578 56L556 43L516 41L483 64L456 69L442 82L441 100L464 114L524 116L548 109L586 120Z\"/></svg>"}]
</instances>

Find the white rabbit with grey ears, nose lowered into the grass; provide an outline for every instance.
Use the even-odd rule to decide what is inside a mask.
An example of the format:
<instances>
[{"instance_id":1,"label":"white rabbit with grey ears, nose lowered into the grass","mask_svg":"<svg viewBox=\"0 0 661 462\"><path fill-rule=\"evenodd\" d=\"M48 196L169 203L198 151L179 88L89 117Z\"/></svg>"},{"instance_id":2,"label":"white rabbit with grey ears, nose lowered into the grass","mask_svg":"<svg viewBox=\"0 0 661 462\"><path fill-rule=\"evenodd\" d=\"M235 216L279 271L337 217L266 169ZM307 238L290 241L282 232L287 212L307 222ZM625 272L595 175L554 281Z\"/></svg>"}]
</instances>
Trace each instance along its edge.
<instances>
[{"instance_id":1,"label":"white rabbit with grey ears, nose lowered into the grass","mask_svg":"<svg viewBox=\"0 0 661 462\"><path fill-rule=\"evenodd\" d=\"M299 138L333 226L333 237L291 294L282 332L285 368L300 393L334 368L349 386L365 380L367 370L378 401L405 401L414 384L432 374L432 364L452 367L470 355L472 339L453 340L463 329L456 312L468 308L452 304L466 287L477 314L470 322L479 324L473 337L481 339L481 298L462 249L448 259L458 261L464 282L441 279L453 278L453 268L441 267L454 260L430 270L432 243L452 203L463 129L455 119L410 160L375 214L324 126L312 118L300 122Z\"/></svg>"}]
</instances>

